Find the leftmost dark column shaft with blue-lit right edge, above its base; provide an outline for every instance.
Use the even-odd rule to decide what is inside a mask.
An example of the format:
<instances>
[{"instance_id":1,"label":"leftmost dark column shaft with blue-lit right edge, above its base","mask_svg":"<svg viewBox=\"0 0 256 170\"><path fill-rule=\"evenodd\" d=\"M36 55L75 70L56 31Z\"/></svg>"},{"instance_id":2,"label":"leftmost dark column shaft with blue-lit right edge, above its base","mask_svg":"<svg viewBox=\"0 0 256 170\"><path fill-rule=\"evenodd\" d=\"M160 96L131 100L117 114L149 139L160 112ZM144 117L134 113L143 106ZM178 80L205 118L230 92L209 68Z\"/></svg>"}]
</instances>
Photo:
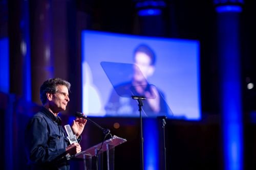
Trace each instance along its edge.
<instances>
[{"instance_id":1,"label":"leftmost dark column shaft with blue-lit right edge, above its base","mask_svg":"<svg viewBox=\"0 0 256 170\"><path fill-rule=\"evenodd\" d=\"M8 3L10 93L31 100L29 3Z\"/></svg>"}]
</instances>

